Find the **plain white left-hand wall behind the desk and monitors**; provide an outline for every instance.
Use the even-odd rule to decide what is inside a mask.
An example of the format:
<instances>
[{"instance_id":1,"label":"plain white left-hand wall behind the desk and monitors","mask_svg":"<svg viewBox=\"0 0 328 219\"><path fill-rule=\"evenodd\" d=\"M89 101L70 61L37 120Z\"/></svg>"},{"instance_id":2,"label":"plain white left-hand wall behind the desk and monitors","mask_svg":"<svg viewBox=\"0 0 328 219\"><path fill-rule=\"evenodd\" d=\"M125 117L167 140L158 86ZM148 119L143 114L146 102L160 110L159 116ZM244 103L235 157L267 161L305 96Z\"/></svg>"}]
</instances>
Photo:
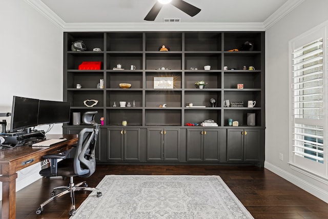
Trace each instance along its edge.
<instances>
[{"instance_id":1,"label":"plain white left-hand wall behind the desk and monitors","mask_svg":"<svg viewBox=\"0 0 328 219\"><path fill-rule=\"evenodd\" d=\"M23 0L1 0L0 43L0 112L11 112L13 95L63 100L63 30ZM10 117L3 119L9 130ZM61 125L49 133L62 133ZM39 169L19 171L17 189L37 180Z\"/></svg>"}]
</instances>

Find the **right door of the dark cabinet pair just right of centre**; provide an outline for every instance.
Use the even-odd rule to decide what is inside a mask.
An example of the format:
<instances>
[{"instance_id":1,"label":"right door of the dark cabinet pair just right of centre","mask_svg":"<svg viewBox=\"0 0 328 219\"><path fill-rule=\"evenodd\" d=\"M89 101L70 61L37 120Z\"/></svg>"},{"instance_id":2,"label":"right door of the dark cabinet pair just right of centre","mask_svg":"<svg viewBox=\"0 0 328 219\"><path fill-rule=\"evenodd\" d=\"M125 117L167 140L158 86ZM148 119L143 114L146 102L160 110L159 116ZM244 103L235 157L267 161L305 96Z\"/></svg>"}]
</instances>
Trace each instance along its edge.
<instances>
[{"instance_id":1,"label":"right door of the dark cabinet pair just right of centre","mask_svg":"<svg viewBox=\"0 0 328 219\"><path fill-rule=\"evenodd\" d=\"M204 161L219 161L219 130L204 129Z\"/></svg>"}]
</instances>

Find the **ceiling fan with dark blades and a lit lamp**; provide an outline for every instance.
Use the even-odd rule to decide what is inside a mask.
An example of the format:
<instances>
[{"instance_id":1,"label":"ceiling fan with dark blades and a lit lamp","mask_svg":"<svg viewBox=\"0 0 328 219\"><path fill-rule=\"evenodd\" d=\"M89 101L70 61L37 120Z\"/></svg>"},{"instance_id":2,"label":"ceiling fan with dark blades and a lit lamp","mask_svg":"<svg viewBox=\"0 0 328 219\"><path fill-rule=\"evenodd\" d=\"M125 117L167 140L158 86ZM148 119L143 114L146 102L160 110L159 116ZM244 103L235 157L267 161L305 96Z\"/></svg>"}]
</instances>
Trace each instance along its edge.
<instances>
[{"instance_id":1,"label":"ceiling fan with dark blades and a lit lamp","mask_svg":"<svg viewBox=\"0 0 328 219\"><path fill-rule=\"evenodd\" d=\"M195 16L199 13L200 9L183 1L183 0L158 0L155 5L150 9L146 17L145 21L155 21L156 16L158 15L160 9L163 7L163 4L171 4L174 7L180 9L181 11L189 14L190 16Z\"/></svg>"}]
</instances>

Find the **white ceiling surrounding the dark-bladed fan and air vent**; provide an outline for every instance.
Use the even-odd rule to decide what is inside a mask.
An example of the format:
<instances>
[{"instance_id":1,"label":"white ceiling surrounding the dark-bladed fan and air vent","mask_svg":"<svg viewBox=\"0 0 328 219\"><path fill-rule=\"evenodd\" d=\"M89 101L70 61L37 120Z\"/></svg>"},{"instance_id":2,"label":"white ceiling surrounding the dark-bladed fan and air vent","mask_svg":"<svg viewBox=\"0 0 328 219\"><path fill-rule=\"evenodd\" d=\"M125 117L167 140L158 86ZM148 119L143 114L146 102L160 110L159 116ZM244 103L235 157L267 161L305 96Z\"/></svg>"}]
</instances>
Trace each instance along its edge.
<instances>
[{"instance_id":1,"label":"white ceiling surrounding the dark-bladed fan and air vent","mask_svg":"<svg viewBox=\"0 0 328 219\"><path fill-rule=\"evenodd\" d=\"M191 17L174 6L164 5L155 21L144 21L157 0L25 0L60 26L76 24L163 23L163 18L181 18L181 23L269 25L303 0L185 0L201 11Z\"/></svg>"}]
</instances>

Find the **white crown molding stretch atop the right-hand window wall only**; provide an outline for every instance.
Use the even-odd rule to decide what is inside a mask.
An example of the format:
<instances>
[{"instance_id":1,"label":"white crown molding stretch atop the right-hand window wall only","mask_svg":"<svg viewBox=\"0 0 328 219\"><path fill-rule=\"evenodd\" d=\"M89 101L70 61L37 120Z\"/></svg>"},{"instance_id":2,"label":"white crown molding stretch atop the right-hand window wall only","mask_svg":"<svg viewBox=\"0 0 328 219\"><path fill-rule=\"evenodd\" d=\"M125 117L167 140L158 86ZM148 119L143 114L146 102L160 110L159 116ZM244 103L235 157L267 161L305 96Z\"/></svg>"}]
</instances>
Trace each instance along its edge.
<instances>
[{"instance_id":1,"label":"white crown molding stretch atop the right-hand window wall only","mask_svg":"<svg viewBox=\"0 0 328 219\"><path fill-rule=\"evenodd\" d=\"M288 0L263 22L264 30L268 30L272 25L280 21L280 19L282 19L303 2L304 0Z\"/></svg>"}]
</instances>

